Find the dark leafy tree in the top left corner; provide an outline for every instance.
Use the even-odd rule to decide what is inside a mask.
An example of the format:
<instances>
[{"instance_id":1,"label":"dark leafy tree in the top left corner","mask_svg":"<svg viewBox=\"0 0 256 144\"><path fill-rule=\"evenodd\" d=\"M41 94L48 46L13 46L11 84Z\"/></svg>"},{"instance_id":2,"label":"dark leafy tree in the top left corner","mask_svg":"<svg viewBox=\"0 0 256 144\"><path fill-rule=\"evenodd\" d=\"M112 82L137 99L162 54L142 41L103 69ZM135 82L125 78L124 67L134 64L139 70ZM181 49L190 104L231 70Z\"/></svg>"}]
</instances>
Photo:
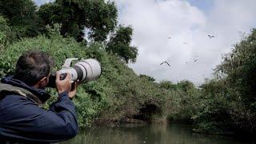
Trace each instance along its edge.
<instances>
[{"instance_id":1,"label":"dark leafy tree in the top left corner","mask_svg":"<svg viewBox=\"0 0 256 144\"><path fill-rule=\"evenodd\" d=\"M8 24L17 38L34 37L44 30L35 10L36 6L31 0L0 1L0 14L9 20Z\"/></svg>"}]
</instances>

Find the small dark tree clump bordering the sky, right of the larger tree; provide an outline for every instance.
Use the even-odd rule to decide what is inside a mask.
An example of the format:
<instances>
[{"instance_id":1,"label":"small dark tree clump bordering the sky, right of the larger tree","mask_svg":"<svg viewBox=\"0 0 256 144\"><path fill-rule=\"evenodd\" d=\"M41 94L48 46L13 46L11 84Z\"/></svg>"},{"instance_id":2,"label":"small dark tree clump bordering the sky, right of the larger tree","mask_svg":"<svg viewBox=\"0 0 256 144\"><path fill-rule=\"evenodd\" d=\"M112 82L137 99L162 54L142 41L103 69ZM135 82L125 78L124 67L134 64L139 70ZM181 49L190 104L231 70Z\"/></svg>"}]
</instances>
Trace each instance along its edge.
<instances>
[{"instance_id":1,"label":"small dark tree clump bordering the sky, right of the larger tree","mask_svg":"<svg viewBox=\"0 0 256 144\"><path fill-rule=\"evenodd\" d=\"M110 42L107 43L106 51L117 54L126 63L136 62L138 49L130 46L132 34L133 29L130 26L118 26L116 32L110 36Z\"/></svg>"}]
</instances>

